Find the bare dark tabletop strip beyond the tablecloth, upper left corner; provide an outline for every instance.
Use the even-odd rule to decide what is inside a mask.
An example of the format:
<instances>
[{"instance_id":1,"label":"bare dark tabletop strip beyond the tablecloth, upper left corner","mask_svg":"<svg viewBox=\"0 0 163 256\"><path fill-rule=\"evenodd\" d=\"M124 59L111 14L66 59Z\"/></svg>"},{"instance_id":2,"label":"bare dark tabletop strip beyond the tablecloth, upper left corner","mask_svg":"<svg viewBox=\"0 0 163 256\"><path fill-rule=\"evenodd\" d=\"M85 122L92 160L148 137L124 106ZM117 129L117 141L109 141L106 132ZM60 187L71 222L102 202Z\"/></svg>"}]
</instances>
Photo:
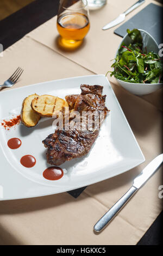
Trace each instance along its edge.
<instances>
[{"instance_id":1,"label":"bare dark tabletop strip beyond the tablecloth, upper left corner","mask_svg":"<svg viewBox=\"0 0 163 256\"><path fill-rule=\"evenodd\" d=\"M1 1L1 0L0 0ZM59 0L35 0L0 21L3 50L58 13Z\"/></svg>"}]
</instances>

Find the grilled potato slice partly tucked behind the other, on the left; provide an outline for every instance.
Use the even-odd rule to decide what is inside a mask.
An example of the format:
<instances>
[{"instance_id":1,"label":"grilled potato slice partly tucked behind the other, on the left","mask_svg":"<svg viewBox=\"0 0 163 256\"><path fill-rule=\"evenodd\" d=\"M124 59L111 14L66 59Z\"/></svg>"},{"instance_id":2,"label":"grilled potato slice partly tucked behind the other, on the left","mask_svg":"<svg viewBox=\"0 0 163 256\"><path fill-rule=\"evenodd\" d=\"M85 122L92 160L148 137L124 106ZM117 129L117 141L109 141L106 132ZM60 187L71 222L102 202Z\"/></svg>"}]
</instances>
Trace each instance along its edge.
<instances>
[{"instance_id":1,"label":"grilled potato slice partly tucked behind the other, on the left","mask_svg":"<svg viewBox=\"0 0 163 256\"><path fill-rule=\"evenodd\" d=\"M24 125L27 127L35 126L39 120L40 115L37 114L31 107L32 100L39 95L32 94L26 97L22 103L22 111L21 111L21 120Z\"/></svg>"}]
</instances>

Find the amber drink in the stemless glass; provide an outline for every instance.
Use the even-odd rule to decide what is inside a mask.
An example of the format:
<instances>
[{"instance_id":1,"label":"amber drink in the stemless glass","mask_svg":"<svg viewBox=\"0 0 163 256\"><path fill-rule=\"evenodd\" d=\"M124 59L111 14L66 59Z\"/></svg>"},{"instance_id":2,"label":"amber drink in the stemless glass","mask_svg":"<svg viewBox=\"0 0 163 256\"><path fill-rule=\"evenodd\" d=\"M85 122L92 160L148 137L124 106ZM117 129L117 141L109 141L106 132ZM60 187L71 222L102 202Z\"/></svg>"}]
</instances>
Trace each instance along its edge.
<instances>
[{"instance_id":1,"label":"amber drink in the stemless glass","mask_svg":"<svg viewBox=\"0 0 163 256\"><path fill-rule=\"evenodd\" d=\"M90 22L82 13L66 13L58 17L57 29L61 35L60 44L77 47L89 32Z\"/></svg>"}]
</instances>

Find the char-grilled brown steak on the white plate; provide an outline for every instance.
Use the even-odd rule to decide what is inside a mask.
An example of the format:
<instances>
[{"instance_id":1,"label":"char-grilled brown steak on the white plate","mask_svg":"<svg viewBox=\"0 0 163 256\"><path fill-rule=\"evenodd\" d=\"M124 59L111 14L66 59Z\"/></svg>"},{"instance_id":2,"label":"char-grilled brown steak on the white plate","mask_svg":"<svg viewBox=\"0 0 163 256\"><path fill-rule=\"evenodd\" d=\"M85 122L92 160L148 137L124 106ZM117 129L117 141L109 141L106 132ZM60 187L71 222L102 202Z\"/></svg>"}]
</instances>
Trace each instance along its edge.
<instances>
[{"instance_id":1,"label":"char-grilled brown steak on the white plate","mask_svg":"<svg viewBox=\"0 0 163 256\"><path fill-rule=\"evenodd\" d=\"M105 96L102 95L103 87L82 84L80 88L82 94L66 96L67 102L73 102L74 110L80 114L82 111L104 111L106 115L108 109L105 107ZM43 141L48 148L47 162L59 166L65 161L86 155L98 133L99 130L78 129L77 126L73 130L65 130L65 128L55 130Z\"/></svg>"}]
</instances>

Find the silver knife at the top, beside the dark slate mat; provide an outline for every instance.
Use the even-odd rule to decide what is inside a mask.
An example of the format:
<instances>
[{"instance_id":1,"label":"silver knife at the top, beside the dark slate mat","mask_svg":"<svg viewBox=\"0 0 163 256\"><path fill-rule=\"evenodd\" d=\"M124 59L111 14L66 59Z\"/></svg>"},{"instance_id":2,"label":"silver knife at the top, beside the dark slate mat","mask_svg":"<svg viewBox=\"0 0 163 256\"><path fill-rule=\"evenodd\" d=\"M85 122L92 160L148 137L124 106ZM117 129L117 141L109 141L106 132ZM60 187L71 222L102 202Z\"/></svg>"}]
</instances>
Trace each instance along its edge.
<instances>
[{"instance_id":1,"label":"silver knife at the top, beside the dark slate mat","mask_svg":"<svg viewBox=\"0 0 163 256\"><path fill-rule=\"evenodd\" d=\"M124 11L124 13L120 14L115 20L109 22L102 29L106 30L106 29L112 28L112 27L120 24L121 22L123 22L125 20L125 17L126 17L127 14L129 14L131 11L135 10L137 7L139 7L144 2L145 2L145 0L140 0L140 1L136 2L129 9L127 9L127 11Z\"/></svg>"}]
</instances>

